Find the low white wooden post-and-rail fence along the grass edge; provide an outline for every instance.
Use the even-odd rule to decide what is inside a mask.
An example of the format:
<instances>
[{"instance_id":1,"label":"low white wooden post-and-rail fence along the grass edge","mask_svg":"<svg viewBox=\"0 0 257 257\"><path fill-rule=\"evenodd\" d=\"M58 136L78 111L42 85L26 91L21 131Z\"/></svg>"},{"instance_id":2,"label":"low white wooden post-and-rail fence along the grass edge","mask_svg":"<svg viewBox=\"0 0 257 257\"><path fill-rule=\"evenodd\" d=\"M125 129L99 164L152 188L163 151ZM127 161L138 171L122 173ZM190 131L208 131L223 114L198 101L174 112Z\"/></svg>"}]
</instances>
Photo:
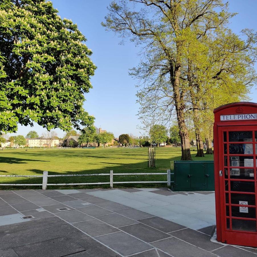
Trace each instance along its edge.
<instances>
[{"instance_id":1,"label":"low white wooden post-and-rail fence along the grass edge","mask_svg":"<svg viewBox=\"0 0 257 257\"><path fill-rule=\"evenodd\" d=\"M121 181L113 182L113 176L127 176L127 175L167 175L166 181ZM58 183L48 184L47 180L49 177L73 177L73 176L110 176L110 182L95 182L95 183ZM166 173L99 173L99 174L70 174L70 175L48 175L48 171L44 171L43 175L0 175L0 177L36 177L43 178L42 184L0 184L0 186L42 186L42 189L46 189L47 186L68 186L68 185L103 185L110 184L110 188L113 188L113 184L127 184L127 183L167 183L170 186L170 170Z\"/></svg>"}]
</instances>

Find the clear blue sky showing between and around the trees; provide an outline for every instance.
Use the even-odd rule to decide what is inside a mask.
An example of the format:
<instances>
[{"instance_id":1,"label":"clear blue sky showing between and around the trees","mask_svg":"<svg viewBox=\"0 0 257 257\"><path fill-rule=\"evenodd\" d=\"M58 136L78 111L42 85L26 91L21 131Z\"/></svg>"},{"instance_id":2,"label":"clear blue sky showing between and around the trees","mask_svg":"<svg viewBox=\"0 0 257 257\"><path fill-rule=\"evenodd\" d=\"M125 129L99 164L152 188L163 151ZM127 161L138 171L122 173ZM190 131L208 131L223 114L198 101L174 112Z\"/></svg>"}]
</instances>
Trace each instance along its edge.
<instances>
[{"instance_id":1,"label":"clear blue sky showing between and around the trees","mask_svg":"<svg viewBox=\"0 0 257 257\"><path fill-rule=\"evenodd\" d=\"M71 19L77 23L79 30L87 38L86 45L93 51L92 61L97 66L91 83L93 89L85 95L84 108L95 116L95 125L111 131L115 136L121 133L139 135L136 128L140 121L136 114L139 106L136 104L135 83L128 70L139 63L139 48L130 41L119 45L120 39L113 32L106 32L101 26L107 15L107 6L111 0L52 0L62 18ZM256 30L255 0L231 0L230 11L238 15L233 17L230 27L235 33L244 28ZM256 90L250 95L257 102ZM38 134L44 128L35 124L33 128L19 126L17 134L26 135L29 130ZM56 129L61 137L64 132Z\"/></svg>"}]
</instances>

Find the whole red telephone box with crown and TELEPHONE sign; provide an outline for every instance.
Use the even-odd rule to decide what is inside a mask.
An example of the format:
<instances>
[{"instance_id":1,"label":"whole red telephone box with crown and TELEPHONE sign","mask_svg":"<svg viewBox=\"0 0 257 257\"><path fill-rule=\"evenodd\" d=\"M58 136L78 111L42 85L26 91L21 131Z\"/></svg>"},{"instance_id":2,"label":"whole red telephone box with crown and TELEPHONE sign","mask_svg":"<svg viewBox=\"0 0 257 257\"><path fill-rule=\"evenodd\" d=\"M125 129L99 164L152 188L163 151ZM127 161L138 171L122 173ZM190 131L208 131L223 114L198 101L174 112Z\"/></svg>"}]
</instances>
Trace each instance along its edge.
<instances>
[{"instance_id":1,"label":"whole red telephone box with crown and TELEPHONE sign","mask_svg":"<svg viewBox=\"0 0 257 257\"><path fill-rule=\"evenodd\" d=\"M257 103L214 110L217 240L257 247Z\"/></svg>"}]
</instances>

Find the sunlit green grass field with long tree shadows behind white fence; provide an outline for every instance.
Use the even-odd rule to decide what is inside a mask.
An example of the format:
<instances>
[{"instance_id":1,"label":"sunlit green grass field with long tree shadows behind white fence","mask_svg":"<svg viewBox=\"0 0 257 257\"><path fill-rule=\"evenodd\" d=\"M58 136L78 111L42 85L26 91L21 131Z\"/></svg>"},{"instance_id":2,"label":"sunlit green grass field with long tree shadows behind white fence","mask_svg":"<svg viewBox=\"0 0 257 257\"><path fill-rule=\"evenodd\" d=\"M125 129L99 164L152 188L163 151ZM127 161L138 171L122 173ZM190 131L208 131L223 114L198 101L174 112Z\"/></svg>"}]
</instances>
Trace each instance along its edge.
<instances>
[{"instance_id":1,"label":"sunlit green grass field with long tree shadows behind white fence","mask_svg":"<svg viewBox=\"0 0 257 257\"><path fill-rule=\"evenodd\" d=\"M194 156L196 151L191 154ZM180 160L181 148L156 148L156 168L147 167L148 148L67 148L67 149L10 149L0 152L0 175L42 175L44 170L52 174L92 174L136 173L136 172L166 172L171 160ZM194 160L212 160L212 155L203 158L193 157ZM114 176L114 181L165 181L166 176ZM48 183L83 183L109 182L109 176L82 177L51 177ZM0 177L0 183L33 184L42 183L42 178L5 178ZM161 187L164 184L116 184L115 187ZM92 188L93 186L73 186L73 188ZM101 185L97 187L108 187ZM1 186L2 190L10 186ZM16 187L24 189L25 186ZM40 188L40 186L26 187ZM51 188L71 188L71 186L52 186Z\"/></svg>"}]
</instances>

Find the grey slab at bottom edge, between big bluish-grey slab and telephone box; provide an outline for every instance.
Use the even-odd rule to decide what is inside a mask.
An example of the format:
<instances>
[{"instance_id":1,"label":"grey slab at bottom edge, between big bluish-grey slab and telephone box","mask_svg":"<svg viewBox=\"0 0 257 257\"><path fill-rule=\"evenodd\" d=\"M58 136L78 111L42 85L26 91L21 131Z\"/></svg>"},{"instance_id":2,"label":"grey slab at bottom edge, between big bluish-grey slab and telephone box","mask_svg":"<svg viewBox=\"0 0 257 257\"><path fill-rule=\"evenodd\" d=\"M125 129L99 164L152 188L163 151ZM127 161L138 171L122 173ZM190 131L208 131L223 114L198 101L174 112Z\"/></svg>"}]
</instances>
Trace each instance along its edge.
<instances>
[{"instance_id":1,"label":"grey slab at bottom edge, between big bluish-grey slab and telephone box","mask_svg":"<svg viewBox=\"0 0 257 257\"><path fill-rule=\"evenodd\" d=\"M177 238L171 237L158 242L154 242L151 245L167 252L174 257L214 257L216 255L202 250L196 246L188 244Z\"/></svg>"}]
</instances>

